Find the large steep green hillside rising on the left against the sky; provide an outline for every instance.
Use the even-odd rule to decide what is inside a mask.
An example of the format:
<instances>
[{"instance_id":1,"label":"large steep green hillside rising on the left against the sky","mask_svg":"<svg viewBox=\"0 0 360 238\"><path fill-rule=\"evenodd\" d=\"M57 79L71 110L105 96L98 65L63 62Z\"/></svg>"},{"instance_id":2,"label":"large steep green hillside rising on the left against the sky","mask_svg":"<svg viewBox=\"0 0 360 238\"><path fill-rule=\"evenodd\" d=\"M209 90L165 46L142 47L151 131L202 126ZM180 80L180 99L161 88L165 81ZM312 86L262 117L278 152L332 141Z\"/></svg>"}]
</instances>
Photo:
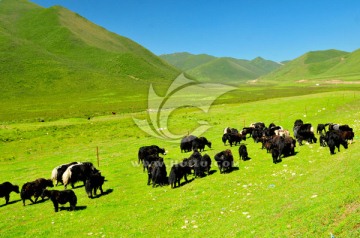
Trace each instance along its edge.
<instances>
[{"instance_id":1,"label":"large steep green hillside rising on the left against the sky","mask_svg":"<svg viewBox=\"0 0 360 238\"><path fill-rule=\"evenodd\" d=\"M167 86L179 71L132 40L63 7L0 1L3 100L112 100ZM129 90L136 86L136 91ZM57 95L57 98L54 98ZM50 99L49 99L50 100Z\"/></svg>"}]
</instances>

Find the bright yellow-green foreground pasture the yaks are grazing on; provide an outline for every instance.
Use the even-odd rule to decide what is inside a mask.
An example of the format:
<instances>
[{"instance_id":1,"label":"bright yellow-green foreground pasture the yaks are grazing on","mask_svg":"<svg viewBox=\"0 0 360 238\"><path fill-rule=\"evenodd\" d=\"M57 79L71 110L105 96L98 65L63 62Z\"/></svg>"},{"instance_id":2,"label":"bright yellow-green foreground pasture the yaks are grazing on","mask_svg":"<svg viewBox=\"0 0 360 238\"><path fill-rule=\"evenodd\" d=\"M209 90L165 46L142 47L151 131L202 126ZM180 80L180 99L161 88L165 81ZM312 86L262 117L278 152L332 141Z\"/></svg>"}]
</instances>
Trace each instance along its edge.
<instances>
[{"instance_id":1,"label":"bright yellow-green foreground pasture the yaks are grazing on","mask_svg":"<svg viewBox=\"0 0 360 238\"><path fill-rule=\"evenodd\" d=\"M242 128L263 121L291 130L296 119L317 125L349 124L355 142L336 155L319 144L296 147L296 156L273 164L260 144L248 139L250 161L220 174L213 160L210 176L196 178L176 189L147 186L137 164L140 146L157 144L168 151L167 171L181 153L179 143L160 140L137 128L124 113L45 122L7 122L0 127L0 182L22 185L50 177L57 165L91 161L106 177L107 193L89 199L84 187L74 191L78 210L53 211L50 201L23 207L18 194L11 204L0 199L1 237L336 237L360 236L360 94L357 91L320 93L218 104L208 113L182 108L171 114L167 129L174 134L212 126L204 136L212 141L213 156L229 146L221 142L224 127ZM225 99L224 99L225 100ZM192 176L189 176L192 179ZM58 186L56 189L63 189ZM69 205L65 205L68 207Z\"/></svg>"}]
</instances>

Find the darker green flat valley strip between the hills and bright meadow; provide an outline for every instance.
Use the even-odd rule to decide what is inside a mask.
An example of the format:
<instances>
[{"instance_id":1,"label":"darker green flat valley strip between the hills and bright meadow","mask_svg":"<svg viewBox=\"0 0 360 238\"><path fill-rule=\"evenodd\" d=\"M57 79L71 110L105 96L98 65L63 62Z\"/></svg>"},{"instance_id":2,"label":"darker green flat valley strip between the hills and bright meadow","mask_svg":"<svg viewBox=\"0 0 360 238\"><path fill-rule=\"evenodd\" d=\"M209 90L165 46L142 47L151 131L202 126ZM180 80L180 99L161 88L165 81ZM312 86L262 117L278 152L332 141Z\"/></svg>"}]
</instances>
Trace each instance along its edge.
<instances>
[{"instance_id":1,"label":"darker green flat valley strip between the hills and bright meadow","mask_svg":"<svg viewBox=\"0 0 360 238\"><path fill-rule=\"evenodd\" d=\"M355 80L355 79L354 79ZM357 78L357 80L359 80ZM171 82L155 81L154 90L159 96L166 95ZM142 86L141 86L142 85ZM114 85L112 89L68 92L53 95L28 95L27 97L15 96L2 98L0 101L0 122L35 122L40 120L54 121L62 118L88 118L111 115L116 113L134 113L147 109L146 87L137 82L124 85ZM219 97L215 104L247 103L270 98L308 95L320 92L333 91L359 91L360 84L321 84L316 86L311 83L283 83L256 85L235 85L236 90L230 91ZM129 88L136 88L135 91ZM217 90L217 88L209 88ZM193 95L189 95L191 99Z\"/></svg>"}]
</instances>

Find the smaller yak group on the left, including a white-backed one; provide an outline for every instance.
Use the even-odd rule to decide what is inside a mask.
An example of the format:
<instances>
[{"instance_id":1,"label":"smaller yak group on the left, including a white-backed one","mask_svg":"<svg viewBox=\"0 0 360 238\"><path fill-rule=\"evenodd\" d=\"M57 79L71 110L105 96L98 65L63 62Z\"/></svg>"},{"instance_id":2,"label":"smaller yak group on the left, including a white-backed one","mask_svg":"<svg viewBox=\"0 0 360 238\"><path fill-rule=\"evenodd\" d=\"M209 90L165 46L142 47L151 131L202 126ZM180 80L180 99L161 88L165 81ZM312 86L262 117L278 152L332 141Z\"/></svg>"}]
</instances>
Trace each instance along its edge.
<instances>
[{"instance_id":1,"label":"smaller yak group on the left, including a white-backed one","mask_svg":"<svg viewBox=\"0 0 360 238\"><path fill-rule=\"evenodd\" d=\"M25 200L30 200L33 204L41 197L44 200L48 197L54 205L55 212L59 211L59 204L70 204L70 210L75 210L77 197L73 190L66 189L68 185L74 189L74 184L82 181L85 186L86 194L93 198L99 189L103 194L102 185L105 177L101 175L91 162L72 162L55 167L51 173L51 179L38 178L31 182L26 182L21 190L19 186L10 182L0 184L0 197L5 197L6 204L9 203L10 193L20 193L20 198L25 206ZM48 187L54 187L53 182L62 183L64 190L48 190ZM34 200L33 200L34 199Z\"/></svg>"}]
</instances>

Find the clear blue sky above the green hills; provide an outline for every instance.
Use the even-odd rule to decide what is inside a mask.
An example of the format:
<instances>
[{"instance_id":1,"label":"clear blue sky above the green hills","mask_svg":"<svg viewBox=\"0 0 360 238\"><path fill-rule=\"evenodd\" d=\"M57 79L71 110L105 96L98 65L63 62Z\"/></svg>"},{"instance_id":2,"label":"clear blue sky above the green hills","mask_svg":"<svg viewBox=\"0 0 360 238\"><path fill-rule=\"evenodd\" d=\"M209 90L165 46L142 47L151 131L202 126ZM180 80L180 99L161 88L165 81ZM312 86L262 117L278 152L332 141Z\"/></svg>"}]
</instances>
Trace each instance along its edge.
<instances>
[{"instance_id":1,"label":"clear blue sky above the green hills","mask_svg":"<svg viewBox=\"0 0 360 238\"><path fill-rule=\"evenodd\" d=\"M291 60L360 48L358 0L31 0L61 5L153 53Z\"/></svg>"}]
</instances>

